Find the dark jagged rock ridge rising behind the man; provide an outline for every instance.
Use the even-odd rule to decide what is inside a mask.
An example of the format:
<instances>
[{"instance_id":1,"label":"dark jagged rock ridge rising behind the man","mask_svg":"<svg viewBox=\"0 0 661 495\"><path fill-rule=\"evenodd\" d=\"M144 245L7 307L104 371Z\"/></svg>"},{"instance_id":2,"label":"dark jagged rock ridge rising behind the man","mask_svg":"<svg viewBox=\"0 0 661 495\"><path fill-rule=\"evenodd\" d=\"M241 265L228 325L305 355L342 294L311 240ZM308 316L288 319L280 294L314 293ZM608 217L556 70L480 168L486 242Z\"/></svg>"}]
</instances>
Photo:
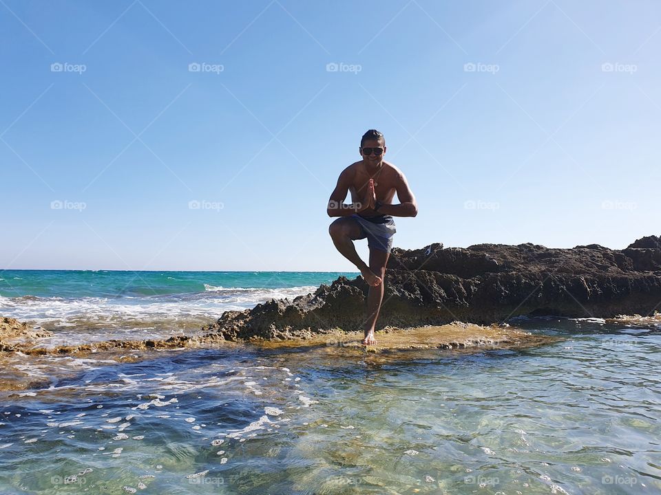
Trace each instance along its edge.
<instances>
[{"instance_id":1,"label":"dark jagged rock ridge rising behind the man","mask_svg":"<svg viewBox=\"0 0 661 495\"><path fill-rule=\"evenodd\" d=\"M597 244L572 249L479 244L393 249L377 329L489 325L516 316L611 318L661 307L661 240L639 239L625 250ZM204 327L227 340L288 339L361 329L368 286L340 277L314 294L227 311Z\"/></svg>"}]
</instances>

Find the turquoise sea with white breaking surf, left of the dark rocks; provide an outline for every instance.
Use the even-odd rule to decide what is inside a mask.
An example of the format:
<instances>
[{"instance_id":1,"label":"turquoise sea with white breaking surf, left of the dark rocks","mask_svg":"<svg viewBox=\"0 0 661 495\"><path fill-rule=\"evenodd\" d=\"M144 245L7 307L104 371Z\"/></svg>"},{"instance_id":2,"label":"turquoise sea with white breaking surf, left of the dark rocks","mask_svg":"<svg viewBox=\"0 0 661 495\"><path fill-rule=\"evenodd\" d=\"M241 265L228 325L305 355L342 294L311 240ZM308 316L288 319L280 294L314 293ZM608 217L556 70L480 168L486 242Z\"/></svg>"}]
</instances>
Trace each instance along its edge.
<instances>
[{"instance_id":1,"label":"turquoise sea with white breaking surf, left of the dark rocks","mask_svg":"<svg viewBox=\"0 0 661 495\"><path fill-rule=\"evenodd\" d=\"M339 272L0 272L0 316L58 331L58 343L195 333L223 311L290 298Z\"/></svg>"}]
</instances>

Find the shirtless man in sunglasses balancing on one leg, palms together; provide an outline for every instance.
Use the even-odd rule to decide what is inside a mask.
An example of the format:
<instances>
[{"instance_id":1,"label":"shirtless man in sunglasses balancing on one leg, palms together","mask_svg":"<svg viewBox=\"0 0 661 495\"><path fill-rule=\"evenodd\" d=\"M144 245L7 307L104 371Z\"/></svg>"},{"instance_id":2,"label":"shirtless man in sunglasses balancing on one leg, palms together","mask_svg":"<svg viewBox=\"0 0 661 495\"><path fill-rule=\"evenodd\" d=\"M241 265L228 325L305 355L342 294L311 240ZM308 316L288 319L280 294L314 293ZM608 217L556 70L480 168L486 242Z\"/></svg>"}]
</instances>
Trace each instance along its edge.
<instances>
[{"instance_id":1,"label":"shirtless man in sunglasses balancing on one leg, palms together","mask_svg":"<svg viewBox=\"0 0 661 495\"><path fill-rule=\"evenodd\" d=\"M392 236L396 232L392 217L415 217L418 206L401 170L384 162L386 140L383 134L375 129L367 131L360 140L359 152L362 159L339 175L326 211L328 217L340 217L328 228L335 248L356 265L370 285L362 343L373 345L377 343L374 329L384 299L384 275ZM347 192L351 192L350 204L344 204ZM395 192L399 204L392 204ZM360 259L353 245L353 241L365 238L370 249L369 265Z\"/></svg>"}]
</instances>

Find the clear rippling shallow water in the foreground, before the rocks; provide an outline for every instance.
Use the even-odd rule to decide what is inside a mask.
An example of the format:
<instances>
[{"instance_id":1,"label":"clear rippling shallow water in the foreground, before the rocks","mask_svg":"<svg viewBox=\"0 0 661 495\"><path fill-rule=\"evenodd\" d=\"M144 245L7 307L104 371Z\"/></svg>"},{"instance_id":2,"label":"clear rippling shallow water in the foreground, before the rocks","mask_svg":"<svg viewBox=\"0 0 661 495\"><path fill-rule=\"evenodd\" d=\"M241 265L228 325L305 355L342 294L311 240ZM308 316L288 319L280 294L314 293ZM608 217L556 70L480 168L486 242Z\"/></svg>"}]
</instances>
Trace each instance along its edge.
<instances>
[{"instance_id":1,"label":"clear rippling shallow water in the foreground, before the rocks","mask_svg":"<svg viewBox=\"0 0 661 495\"><path fill-rule=\"evenodd\" d=\"M560 340L7 355L32 382L0 391L0 493L661 492L658 324L512 325Z\"/></svg>"}]
</instances>

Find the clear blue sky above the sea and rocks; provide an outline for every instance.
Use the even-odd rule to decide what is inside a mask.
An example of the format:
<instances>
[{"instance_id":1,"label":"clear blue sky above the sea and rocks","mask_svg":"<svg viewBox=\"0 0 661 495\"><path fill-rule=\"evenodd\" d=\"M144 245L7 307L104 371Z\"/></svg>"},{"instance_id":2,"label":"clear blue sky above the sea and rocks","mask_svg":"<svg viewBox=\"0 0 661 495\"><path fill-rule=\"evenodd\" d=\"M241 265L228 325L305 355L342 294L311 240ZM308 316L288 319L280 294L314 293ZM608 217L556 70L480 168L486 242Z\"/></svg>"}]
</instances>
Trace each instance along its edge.
<instances>
[{"instance_id":1,"label":"clear blue sky above the sea and rocks","mask_svg":"<svg viewBox=\"0 0 661 495\"><path fill-rule=\"evenodd\" d=\"M326 201L370 128L419 203L400 248L659 234L655 1L1 0L0 29L1 268L352 270Z\"/></svg>"}]
</instances>

